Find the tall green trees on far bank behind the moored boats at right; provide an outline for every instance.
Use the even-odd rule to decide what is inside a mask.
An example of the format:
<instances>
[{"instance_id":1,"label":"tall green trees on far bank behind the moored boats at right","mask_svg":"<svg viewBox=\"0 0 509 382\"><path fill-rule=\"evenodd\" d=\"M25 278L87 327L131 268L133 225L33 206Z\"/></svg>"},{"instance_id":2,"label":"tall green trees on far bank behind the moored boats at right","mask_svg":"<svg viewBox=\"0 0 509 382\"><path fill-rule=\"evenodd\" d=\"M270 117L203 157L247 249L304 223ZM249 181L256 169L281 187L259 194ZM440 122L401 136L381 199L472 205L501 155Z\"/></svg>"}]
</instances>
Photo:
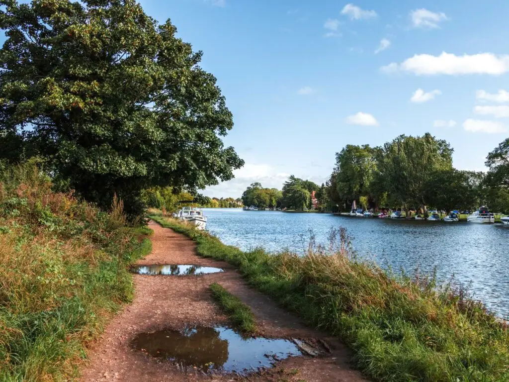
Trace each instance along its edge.
<instances>
[{"instance_id":1,"label":"tall green trees on far bank behind the moored boats at right","mask_svg":"<svg viewBox=\"0 0 509 382\"><path fill-rule=\"evenodd\" d=\"M453 167L453 148L426 133L400 135L380 147L347 145L336 153L327 182L329 206L349 210L429 208L472 210L486 204L509 212L509 139L489 153L488 173Z\"/></svg>"}]
</instances>

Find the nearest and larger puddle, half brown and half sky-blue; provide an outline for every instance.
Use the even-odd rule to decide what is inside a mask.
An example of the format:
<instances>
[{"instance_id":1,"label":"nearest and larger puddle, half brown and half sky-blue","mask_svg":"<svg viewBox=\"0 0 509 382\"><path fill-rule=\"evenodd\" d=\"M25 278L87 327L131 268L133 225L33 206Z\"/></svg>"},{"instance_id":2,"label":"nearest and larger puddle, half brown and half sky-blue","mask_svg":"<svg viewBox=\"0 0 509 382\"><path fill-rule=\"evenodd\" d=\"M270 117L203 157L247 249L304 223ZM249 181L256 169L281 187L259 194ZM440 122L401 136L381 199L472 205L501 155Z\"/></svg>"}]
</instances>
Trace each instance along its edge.
<instances>
[{"instance_id":1,"label":"nearest and larger puddle, half brown and half sky-blue","mask_svg":"<svg viewBox=\"0 0 509 382\"><path fill-rule=\"evenodd\" d=\"M142 333L133 346L152 357L176 362L203 371L243 373L271 367L277 360L300 356L289 340L243 338L229 328L193 328Z\"/></svg>"}]
</instances>

